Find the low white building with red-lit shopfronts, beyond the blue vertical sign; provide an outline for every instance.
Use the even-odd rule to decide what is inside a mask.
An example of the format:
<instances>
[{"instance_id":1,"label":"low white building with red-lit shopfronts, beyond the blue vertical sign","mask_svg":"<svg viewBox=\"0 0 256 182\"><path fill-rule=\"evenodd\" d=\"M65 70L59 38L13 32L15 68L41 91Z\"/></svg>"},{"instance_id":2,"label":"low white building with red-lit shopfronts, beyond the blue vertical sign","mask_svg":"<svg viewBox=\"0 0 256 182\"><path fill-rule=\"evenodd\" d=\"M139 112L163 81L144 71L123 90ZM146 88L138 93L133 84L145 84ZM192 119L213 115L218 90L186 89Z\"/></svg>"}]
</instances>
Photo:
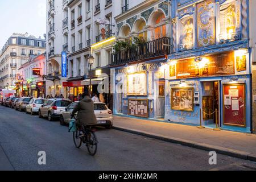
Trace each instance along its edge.
<instances>
[{"instance_id":1,"label":"low white building with red-lit shopfronts, beyond the blue vertical sign","mask_svg":"<svg viewBox=\"0 0 256 182\"><path fill-rule=\"evenodd\" d=\"M30 56L27 63L18 69L19 77L24 80L22 83L22 96L34 98L46 98L46 81L42 77L46 75L46 53L39 56Z\"/></svg>"}]
</instances>

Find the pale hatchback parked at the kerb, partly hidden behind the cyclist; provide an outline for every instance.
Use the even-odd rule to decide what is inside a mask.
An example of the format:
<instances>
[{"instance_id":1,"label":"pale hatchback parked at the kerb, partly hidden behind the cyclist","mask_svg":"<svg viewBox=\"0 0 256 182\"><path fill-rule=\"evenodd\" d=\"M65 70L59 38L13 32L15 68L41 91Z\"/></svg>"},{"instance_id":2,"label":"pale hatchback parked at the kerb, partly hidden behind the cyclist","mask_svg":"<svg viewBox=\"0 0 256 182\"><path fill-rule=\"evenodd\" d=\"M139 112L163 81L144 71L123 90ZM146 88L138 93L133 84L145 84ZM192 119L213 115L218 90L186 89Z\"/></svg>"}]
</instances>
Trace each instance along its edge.
<instances>
[{"instance_id":1,"label":"pale hatchback parked at the kerb, partly hidden behind the cyclist","mask_svg":"<svg viewBox=\"0 0 256 182\"><path fill-rule=\"evenodd\" d=\"M71 119L71 114L78 102L73 102L60 113L60 125L66 125ZM112 110L103 102L94 102L94 113L97 118L97 126L104 126L106 129L111 129L113 126Z\"/></svg>"}]
</instances>

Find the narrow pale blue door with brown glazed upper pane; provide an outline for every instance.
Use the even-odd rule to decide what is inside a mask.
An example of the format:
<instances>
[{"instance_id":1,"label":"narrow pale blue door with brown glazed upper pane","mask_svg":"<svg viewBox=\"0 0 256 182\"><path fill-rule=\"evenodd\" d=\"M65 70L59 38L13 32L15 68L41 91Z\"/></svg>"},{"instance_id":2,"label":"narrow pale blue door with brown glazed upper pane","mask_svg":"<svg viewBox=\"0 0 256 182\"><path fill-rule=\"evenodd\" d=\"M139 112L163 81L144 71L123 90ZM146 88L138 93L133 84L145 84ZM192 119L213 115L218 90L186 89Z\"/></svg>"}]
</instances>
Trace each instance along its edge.
<instances>
[{"instance_id":1,"label":"narrow pale blue door with brown glazed upper pane","mask_svg":"<svg viewBox=\"0 0 256 182\"><path fill-rule=\"evenodd\" d=\"M164 97L165 81L156 82L156 118L164 118L166 98Z\"/></svg>"}]
</instances>

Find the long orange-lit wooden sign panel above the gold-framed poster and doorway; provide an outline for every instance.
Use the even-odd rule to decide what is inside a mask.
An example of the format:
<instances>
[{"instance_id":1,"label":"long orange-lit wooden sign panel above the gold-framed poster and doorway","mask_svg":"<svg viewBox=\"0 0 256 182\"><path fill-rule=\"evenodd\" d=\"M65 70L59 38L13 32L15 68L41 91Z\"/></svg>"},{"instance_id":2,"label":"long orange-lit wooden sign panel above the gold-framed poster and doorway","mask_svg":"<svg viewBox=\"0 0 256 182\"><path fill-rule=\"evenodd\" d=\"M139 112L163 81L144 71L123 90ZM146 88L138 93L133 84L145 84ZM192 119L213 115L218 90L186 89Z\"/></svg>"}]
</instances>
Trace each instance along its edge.
<instances>
[{"instance_id":1,"label":"long orange-lit wooden sign panel above the gold-framed poster and doorway","mask_svg":"<svg viewBox=\"0 0 256 182\"><path fill-rule=\"evenodd\" d=\"M179 78L206 77L213 75L233 75L234 52L204 57L201 61L195 59L179 60L176 64L176 76Z\"/></svg>"}]
</instances>

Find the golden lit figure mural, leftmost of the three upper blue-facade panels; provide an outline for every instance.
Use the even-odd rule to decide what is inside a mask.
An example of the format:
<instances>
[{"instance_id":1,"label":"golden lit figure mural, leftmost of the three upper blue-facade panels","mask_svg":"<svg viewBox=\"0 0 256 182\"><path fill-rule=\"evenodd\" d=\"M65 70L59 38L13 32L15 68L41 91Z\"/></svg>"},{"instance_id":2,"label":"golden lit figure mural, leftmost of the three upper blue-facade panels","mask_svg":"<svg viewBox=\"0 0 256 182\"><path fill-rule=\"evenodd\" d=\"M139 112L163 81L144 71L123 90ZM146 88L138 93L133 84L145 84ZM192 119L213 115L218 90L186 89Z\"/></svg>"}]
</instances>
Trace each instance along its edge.
<instances>
[{"instance_id":1,"label":"golden lit figure mural, leftmost of the three upper blue-facade panels","mask_svg":"<svg viewBox=\"0 0 256 182\"><path fill-rule=\"evenodd\" d=\"M185 49L193 48L194 25L193 16L187 16L179 20L180 44L184 44Z\"/></svg>"}]
</instances>

